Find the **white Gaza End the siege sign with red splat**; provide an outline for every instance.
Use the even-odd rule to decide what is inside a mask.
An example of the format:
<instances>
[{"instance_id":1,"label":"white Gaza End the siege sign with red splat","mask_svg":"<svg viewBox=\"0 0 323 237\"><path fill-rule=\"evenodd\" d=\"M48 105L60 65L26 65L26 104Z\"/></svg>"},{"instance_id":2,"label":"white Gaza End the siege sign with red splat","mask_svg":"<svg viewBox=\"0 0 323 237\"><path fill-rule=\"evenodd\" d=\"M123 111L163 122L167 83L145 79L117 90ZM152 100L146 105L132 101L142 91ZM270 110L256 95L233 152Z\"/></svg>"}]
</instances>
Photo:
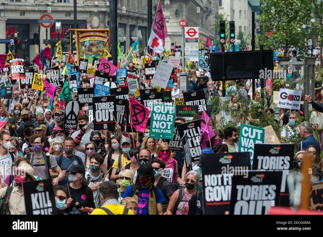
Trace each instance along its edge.
<instances>
[{"instance_id":1,"label":"white Gaza End the siege sign with red splat","mask_svg":"<svg viewBox=\"0 0 323 237\"><path fill-rule=\"evenodd\" d=\"M302 91L279 89L277 107L285 109L300 109Z\"/></svg>"}]
</instances>

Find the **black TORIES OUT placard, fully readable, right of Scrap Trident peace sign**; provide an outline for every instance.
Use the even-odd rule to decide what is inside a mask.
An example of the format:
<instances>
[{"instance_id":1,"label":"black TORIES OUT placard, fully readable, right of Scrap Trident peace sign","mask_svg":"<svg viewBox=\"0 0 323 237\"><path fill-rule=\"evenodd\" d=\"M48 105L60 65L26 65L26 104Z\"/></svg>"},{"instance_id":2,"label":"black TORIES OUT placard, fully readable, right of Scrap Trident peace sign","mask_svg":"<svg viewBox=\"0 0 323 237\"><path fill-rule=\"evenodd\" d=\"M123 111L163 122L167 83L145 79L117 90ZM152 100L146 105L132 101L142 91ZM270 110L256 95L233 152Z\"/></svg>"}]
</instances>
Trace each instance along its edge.
<instances>
[{"instance_id":1,"label":"black TORIES OUT placard, fully readable, right of Scrap Trident peace sign","mask_svg":"<svg viewBox=\"0 0 323 237\"><path fill-rule=\"evenodd\" d=\"M114 95L96 96L93 101L94 130L114 131L116 123L113 120Z\"/></svg>"}]
</instances>

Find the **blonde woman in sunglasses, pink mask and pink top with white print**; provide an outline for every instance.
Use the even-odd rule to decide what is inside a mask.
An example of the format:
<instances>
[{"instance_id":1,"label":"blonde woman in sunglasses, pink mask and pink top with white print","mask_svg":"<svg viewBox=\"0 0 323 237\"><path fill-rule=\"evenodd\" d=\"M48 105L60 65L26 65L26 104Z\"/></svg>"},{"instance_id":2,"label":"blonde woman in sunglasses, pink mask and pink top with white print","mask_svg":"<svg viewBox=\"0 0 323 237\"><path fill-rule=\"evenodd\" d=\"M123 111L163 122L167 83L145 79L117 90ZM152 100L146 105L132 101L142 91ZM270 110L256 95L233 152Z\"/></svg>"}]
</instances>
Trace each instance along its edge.
<instances>
[{"instance_id":1,"label":"blonde woman in sunglasses, pink mask and pink top with white print","mask_svg":"<svg viewBox=\"0 0 323 237\"><path fill-rule=\"evenodd\" d=\"M168 143L161 143L157 150L157 158L165 162L166 167L163 170L161 176L168 179L169 182L178 183L180 185L184 185L185 182L182 181L180 176L178 175L178 164L177 161L170 157L171 149Z\"/></svg>"}]
</instances>

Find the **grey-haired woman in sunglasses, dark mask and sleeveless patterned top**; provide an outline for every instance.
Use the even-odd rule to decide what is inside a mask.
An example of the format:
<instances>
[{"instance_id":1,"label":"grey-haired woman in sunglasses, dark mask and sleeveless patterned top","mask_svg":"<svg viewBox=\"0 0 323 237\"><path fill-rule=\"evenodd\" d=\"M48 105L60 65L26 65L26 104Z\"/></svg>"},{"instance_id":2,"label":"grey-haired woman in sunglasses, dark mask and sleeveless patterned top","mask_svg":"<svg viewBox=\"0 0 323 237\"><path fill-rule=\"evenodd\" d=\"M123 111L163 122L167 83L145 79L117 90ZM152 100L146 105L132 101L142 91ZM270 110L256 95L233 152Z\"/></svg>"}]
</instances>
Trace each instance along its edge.
<instances>
[{"instance_id":1,"label":"grey-haired woman in sunglasses, dark mask and sleeveless patterned top","mask_svg":"<svg viewBox=\"0 0 323 237\"><path fill-rule=\"evenodd\" d=\"M199 175L196 171L189 171L185 175L185 188L178 189L172 195L166 211L167 215L187 215L189 201L193 194L199 192L195 187L199 183Z\"/></svg>"}]
</instances>

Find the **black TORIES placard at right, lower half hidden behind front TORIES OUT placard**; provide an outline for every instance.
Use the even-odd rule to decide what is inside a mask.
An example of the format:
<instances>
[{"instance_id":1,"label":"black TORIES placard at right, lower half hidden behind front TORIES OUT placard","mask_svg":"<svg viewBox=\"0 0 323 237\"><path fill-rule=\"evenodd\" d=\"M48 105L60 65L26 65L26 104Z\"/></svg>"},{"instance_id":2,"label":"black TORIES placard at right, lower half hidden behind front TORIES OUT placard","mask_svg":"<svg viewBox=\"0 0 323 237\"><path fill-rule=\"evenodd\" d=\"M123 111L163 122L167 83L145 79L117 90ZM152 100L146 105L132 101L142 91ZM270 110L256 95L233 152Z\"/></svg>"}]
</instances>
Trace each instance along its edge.
<instances>
[{"instance_id":1,"label":"black TORIES placard at right, lower half hidden behind front TORIES OUT placard","mask_svg":"<svg viewBox=\"0 0 323 237\"><path fill-rule=\"evenodd\" d=\"M287 176L295 167L294 144L255 144L254 170L282 171L279 206L289 207Z\"/></svg>"}]
</instances>

